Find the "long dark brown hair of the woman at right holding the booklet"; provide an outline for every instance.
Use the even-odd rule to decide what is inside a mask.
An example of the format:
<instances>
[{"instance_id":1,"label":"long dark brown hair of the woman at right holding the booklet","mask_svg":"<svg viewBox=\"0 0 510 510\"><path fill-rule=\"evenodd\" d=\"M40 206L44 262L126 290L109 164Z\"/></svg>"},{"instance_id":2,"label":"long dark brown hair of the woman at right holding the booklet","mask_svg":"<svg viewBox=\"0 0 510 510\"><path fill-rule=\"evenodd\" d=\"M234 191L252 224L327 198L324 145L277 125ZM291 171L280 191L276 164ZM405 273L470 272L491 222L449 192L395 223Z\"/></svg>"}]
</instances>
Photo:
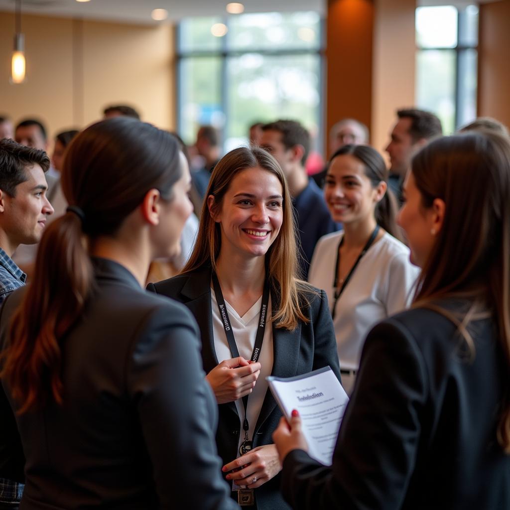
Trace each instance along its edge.
<instances>
[{"instance_id":1,"label":"long dark brown hair of the woman at right holding the booklet","mask_svg":"<svg viewBox=\"0 0 510 510\"><path fill-rule=\"evenodd\" d=\"M510 139L482 130L440 138L415 155L412 175L424 210L436 198L446 204L413 308L433 309L456 324L470 359L470 321L493 317L505 374L497 439L510 454ZM440 306L445 298L471 304L454 314Z\"/></svg>"}]
</instances>

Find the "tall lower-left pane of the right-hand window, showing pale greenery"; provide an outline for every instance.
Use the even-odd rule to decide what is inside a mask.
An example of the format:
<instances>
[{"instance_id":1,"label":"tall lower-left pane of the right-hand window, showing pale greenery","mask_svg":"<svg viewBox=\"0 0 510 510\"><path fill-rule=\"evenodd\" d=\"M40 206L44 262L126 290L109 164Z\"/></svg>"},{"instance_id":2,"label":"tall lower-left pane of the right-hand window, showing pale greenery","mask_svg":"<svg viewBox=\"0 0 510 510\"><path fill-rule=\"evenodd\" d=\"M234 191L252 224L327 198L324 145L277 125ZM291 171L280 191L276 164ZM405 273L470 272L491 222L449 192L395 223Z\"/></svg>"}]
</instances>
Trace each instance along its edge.
<instances>
[{"instance_id":1,"label":"tall lower-left pane of the right-hand window, showing pale greenery","mask_svg":"<svg viewBox=\"0 0 510 510\"><path fill-rule=\"evenodd\" d=\"M416 103L441 119L445 134L455 129L455 58L454 50L416 55Z\"/></svg>"}]
</instances>

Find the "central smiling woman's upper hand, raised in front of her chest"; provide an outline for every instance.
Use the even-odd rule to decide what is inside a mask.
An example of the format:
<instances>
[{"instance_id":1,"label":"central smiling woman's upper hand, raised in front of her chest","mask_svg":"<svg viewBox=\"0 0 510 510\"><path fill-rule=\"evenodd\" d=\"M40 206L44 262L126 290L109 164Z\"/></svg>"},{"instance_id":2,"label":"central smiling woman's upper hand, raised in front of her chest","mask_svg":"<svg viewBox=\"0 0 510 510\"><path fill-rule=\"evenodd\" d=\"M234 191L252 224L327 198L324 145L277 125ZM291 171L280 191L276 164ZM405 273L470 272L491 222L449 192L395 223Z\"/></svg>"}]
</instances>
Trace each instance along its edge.
<instances>
[{"instance_id":1,"label":"central smiling woman's upper hand, raised in front of her chest","mask_svg":"<svg viewBox=\"0 0 510 510\"><path fill-rule=\"evenodd\" d=\"M217 402L224 404L249 395L260 375L260 368L260 363L253 363L239 356L216 365L206 379Z\"/></svg>"}]
</instances>

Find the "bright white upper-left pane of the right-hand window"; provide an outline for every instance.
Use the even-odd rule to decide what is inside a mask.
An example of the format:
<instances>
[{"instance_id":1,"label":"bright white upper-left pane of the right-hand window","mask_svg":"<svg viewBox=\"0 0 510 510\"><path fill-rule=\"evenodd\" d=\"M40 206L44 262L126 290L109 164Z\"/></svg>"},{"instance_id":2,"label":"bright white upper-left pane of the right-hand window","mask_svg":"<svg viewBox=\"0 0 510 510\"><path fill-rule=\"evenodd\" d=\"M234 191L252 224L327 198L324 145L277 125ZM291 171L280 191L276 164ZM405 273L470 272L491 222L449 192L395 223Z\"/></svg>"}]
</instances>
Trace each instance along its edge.
<instances>
[{"instance_id":1,"label":"bright white upper-left pane of the right-hand window","mask_svg":"<svg viewBox=\"0 0 510 510\"><path fill-rule=\"evenodd\" d=\"M451 5L416 9L416 44L421 48L457 45L457 9Z\"/></svg>"}]
</instances>

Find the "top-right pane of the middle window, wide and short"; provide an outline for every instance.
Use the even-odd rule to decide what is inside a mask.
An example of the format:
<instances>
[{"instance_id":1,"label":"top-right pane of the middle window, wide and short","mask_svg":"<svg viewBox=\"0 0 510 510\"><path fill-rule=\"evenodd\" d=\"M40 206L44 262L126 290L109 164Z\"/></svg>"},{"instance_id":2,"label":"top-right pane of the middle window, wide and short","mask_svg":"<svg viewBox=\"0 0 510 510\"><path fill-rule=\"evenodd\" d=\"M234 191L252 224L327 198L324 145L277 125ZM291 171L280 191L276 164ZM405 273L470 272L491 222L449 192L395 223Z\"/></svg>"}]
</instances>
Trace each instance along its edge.
<instances>
[{"instance_id":1,"label":"top-right pane of the middle window, wide and short","mask_svg":"<svg viewBox=\"0 0 510 510\"><path fill-rule=\"evenodd\" d=\"M314 49L320 44L316 12L243 14L228 18L228 48Z\"/></svg>"}]
</instances>

